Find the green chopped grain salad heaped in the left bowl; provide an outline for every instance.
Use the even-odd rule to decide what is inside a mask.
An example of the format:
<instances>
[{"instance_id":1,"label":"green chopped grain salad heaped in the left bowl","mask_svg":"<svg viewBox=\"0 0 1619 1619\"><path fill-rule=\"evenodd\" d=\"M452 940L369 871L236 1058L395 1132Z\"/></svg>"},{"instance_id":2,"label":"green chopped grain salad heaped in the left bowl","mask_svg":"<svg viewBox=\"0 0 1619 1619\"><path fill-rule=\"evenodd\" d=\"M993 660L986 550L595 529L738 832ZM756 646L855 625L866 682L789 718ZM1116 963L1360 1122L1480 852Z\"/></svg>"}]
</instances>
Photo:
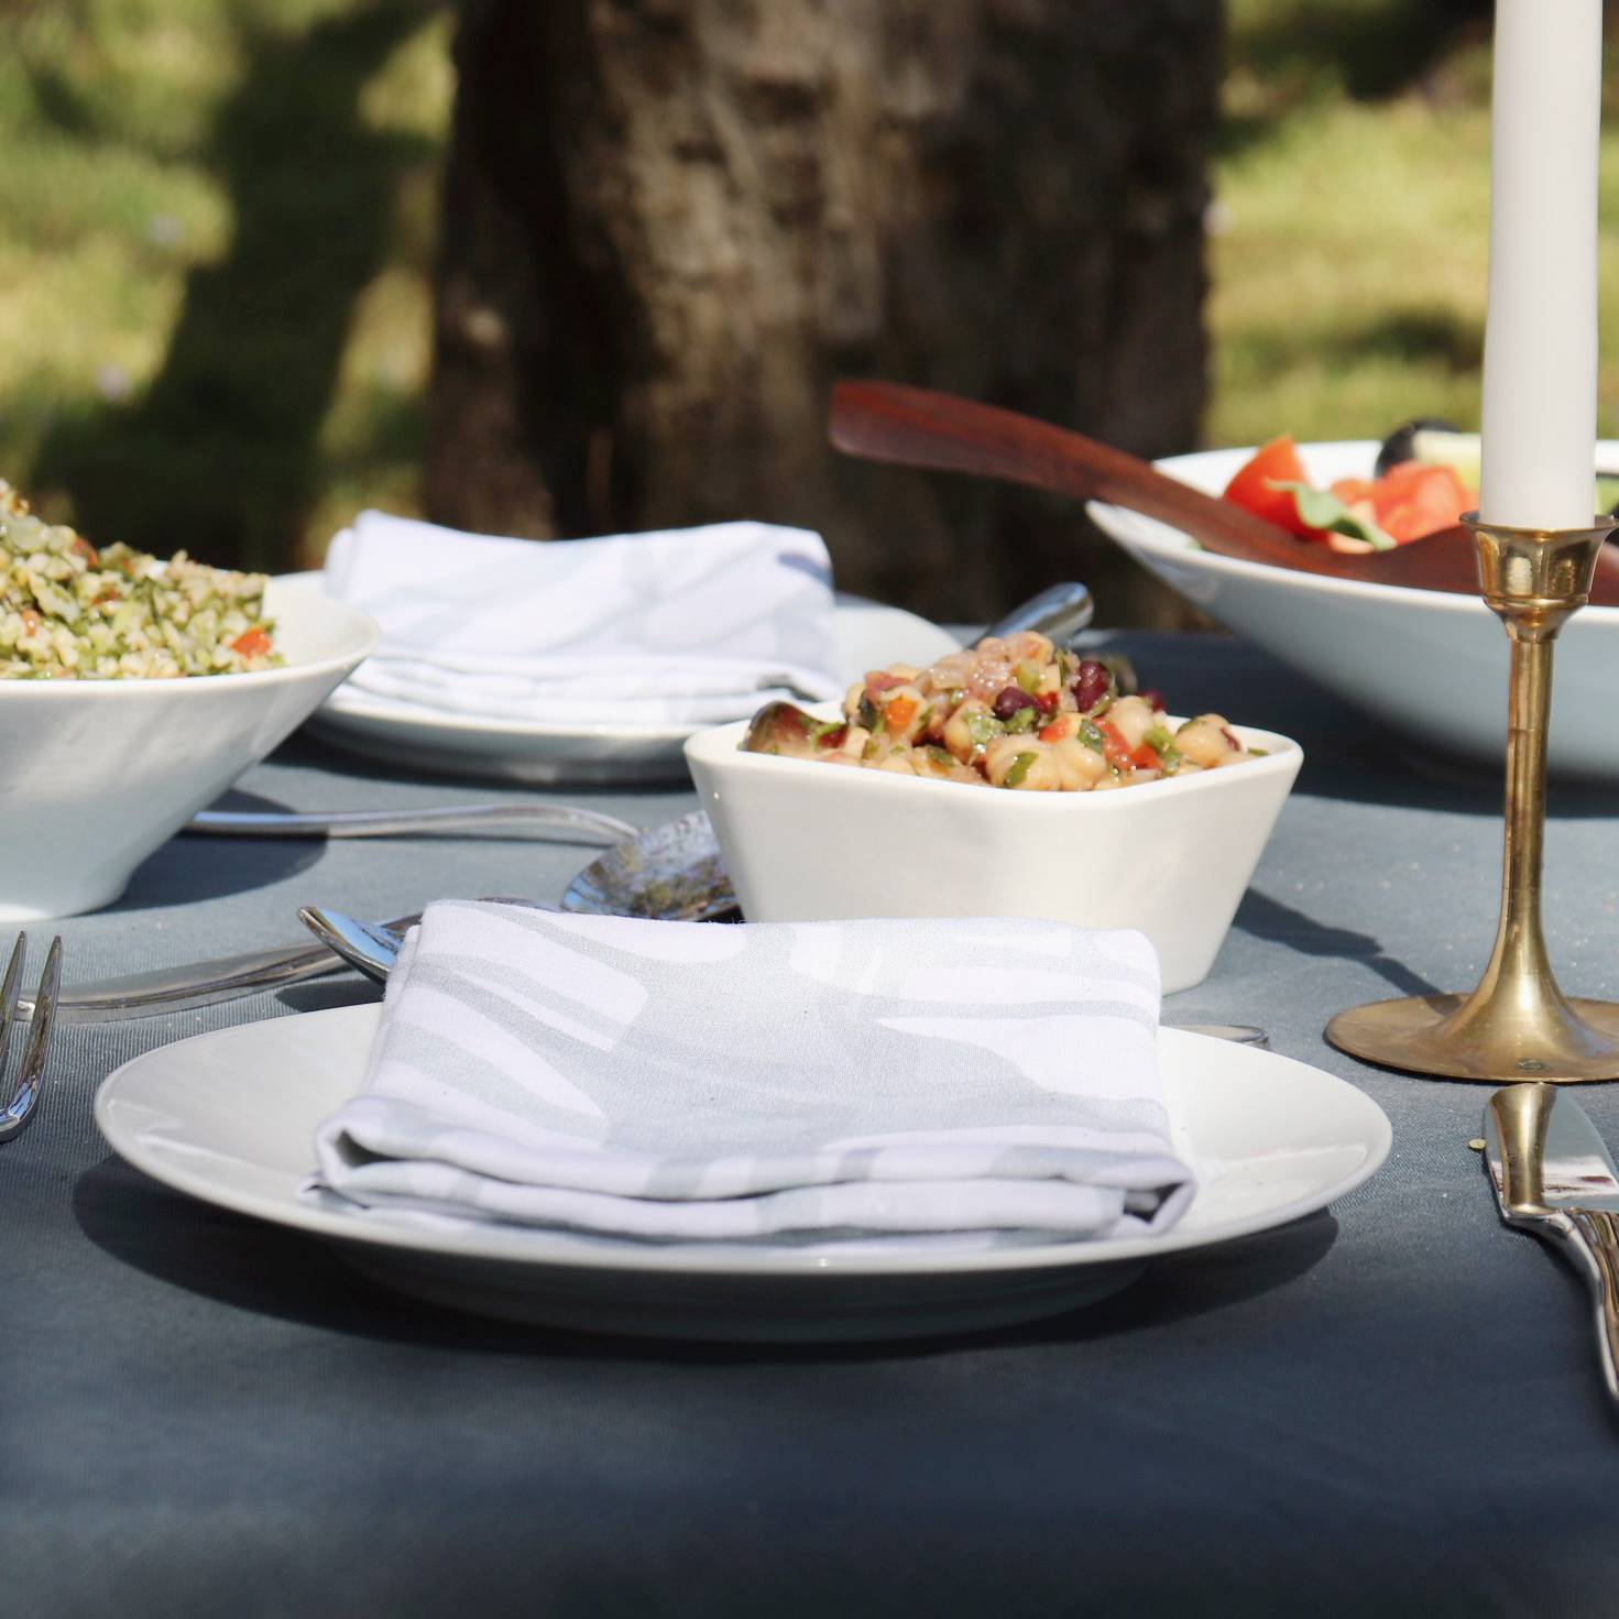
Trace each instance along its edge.
<instances>
[{"instance_id":1,"label":"green chopped grain salad heaped in the left bowl","mask_svg":"<svg viewBox=\"0 0 1619 1619\"><path fill-rule=\"evenodd\" d=\"M228 675L282 662L262 573L97 550L0 479L0 680Z\"/></svg>"}]
</instances>

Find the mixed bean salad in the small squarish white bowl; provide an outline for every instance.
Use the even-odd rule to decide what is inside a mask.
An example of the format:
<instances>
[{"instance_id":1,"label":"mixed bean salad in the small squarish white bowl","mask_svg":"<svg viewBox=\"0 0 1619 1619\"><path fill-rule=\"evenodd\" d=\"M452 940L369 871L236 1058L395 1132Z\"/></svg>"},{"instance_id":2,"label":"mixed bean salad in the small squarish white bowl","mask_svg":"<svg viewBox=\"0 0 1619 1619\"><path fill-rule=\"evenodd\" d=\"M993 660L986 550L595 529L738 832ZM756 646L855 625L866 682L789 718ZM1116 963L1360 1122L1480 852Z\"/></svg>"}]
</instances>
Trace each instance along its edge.
<instances>
[{"instance_id":1,"label":"mixed bean salad in the small squarish white bowl","mask_svg":"<svg viewBox=\"0 0 1619 1619\"><path fill-rule=\"evenodd\" d=\"M1175 725L1156 691L1133 690L1124 661L1059 651L1031 630L928 669L873 670L848 688L839 720L772 703L743 748L1023 792L1133 787L1260 751L1219 714Z\"/></svg>"}]
</instances>

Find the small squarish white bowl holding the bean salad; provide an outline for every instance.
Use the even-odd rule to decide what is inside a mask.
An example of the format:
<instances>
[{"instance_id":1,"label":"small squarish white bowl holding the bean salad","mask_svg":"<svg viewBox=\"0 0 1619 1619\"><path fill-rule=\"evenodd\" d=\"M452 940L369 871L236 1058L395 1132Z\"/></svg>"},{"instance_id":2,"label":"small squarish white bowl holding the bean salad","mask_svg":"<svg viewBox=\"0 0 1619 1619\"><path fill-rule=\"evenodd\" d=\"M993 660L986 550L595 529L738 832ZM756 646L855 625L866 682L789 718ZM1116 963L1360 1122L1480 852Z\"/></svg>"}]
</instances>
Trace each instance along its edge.
<instances>
[{"instance_id":1,"label":"small squarish white bowl holding the bean salad","mask_svg":"<svg viewBox=\"0 0 1619 1619\"><path fill-rule=\"evenodd\" d=\"M832 719L835 704L811 709ZM1049 916L1138 928L1164 991L1200 984L1298 776L1303 750L1101 793L1025 793L742 753L746 722L686 743L750 921Z\"/></svg>"}]
</instances>

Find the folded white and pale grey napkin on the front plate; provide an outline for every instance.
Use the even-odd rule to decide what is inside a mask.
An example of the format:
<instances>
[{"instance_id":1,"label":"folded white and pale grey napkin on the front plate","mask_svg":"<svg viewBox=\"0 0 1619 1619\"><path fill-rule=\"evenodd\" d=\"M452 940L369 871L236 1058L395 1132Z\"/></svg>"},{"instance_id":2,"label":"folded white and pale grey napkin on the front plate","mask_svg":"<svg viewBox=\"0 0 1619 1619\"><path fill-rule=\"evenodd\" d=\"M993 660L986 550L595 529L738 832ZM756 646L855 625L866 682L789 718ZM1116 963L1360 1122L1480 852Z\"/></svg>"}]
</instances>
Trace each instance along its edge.
<instances>
[{"instance_id":1,"label":"folded white and pale grey napkin on the front plate","mask_svg":"<svg viewBox=\"0 0 1619 1619\"><path fill-rule=\"evenodd\" d=\"M445 900L311 1196L515 1242L986 1248L1148 1235L1193 1174L1137 933L714 924Z\"/></svg>"}]
</instances>

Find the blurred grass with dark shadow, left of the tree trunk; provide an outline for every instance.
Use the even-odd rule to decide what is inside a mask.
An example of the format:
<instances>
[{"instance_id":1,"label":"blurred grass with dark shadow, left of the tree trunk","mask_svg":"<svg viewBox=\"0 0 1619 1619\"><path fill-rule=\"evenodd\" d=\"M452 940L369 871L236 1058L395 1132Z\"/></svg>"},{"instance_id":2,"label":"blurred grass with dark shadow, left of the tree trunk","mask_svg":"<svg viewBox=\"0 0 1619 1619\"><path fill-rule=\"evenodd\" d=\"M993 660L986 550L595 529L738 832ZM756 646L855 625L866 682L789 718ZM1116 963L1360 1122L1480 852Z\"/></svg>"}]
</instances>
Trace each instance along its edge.
<instances>
[{"instance_id":1,"label":"blurred grass with dark shadow, left of the tree trunk","mask_svg":"<svg viewBox=\"0 0 1619 1619\"><path fill-rule=\"evenodd\" d=\"M253 565L418 508L448 32L426 0L0 0L0 471Z\"/></svg>"}]
</instances>

